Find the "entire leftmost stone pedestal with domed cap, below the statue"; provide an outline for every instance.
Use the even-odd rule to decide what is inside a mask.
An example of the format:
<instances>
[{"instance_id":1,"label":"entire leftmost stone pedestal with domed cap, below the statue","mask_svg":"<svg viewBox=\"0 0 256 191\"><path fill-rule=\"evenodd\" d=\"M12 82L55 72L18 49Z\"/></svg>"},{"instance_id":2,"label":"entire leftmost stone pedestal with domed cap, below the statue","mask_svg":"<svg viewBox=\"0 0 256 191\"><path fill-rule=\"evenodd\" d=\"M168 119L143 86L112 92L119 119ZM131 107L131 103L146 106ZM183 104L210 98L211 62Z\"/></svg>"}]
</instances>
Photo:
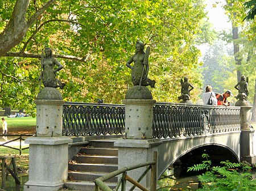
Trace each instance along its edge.
<instances>
[{"instance_id":1,"label":"entire leftmost stone pedestal with domed cap, below the statue","mask_svg":"<svg viewBox=\"0 0 256 191\"><path fill-rule=\"evenodd\" d=\"M45 87L36 103L36 137L30 137L29 180L24 191L56 191L68 177L69 137L61 137L63 101L56 88Z\"/></svg>"}]
</instances>

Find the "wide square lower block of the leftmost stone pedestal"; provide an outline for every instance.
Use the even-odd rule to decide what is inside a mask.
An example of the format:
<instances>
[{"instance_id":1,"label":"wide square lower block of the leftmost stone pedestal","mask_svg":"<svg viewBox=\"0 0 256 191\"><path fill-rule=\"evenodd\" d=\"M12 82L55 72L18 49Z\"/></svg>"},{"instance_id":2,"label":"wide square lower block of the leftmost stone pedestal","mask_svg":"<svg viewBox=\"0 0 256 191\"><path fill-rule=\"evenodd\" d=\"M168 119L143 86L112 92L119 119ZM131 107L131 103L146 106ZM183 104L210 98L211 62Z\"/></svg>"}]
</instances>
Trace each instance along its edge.
<instances>
[{"instance_id":1,"label":"wide square lower block of the leftmost stone pedestal","mask_svg":"<svg viewBox=\"0 0 256 191\"><path fill-rule=\"evenodd\" d=\"M29 137L29 180L24 191L55 191L68 178L68 137Z\"/></svg>"}]
</instances>

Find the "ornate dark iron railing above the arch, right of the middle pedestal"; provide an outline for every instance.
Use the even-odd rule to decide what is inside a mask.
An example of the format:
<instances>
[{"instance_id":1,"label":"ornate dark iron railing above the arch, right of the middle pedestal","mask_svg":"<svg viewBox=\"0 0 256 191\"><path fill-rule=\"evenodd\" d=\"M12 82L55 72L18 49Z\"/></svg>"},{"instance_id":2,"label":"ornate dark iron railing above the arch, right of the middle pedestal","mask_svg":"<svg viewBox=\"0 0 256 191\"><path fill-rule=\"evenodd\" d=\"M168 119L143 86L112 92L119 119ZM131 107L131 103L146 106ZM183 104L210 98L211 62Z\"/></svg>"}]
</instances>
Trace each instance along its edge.
<instances>
[{"instance_id":1,"label":"ornate dark iron railing above the arch, right of the middle pedestal","mask_svg":"<svg viewBox=\"0 0 256 191\"><path fill-rule=\"evenodd\" d=\"M240 107L156 103L153 137L189 137L240 130Z\"/></svg>"}]
</instances>

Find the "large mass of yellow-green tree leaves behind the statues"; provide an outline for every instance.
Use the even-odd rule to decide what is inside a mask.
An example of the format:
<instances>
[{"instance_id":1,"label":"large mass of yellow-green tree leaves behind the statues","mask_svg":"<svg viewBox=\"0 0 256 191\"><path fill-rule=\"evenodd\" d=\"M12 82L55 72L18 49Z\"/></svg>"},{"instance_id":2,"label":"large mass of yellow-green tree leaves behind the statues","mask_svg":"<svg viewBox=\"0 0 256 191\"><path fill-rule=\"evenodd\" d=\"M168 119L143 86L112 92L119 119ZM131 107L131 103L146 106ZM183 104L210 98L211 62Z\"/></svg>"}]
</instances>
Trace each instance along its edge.
<instances>
[{"instance_id":1,"label":"large mass of yellow-green tree leaves behind the statues","mask_svg":"<svg viewBox=\"0 0 256 191\"><path fill-rule=\"evenodd\" d=\"M30 1L27 18L46 1ZM15 1L0 5L0 32L10 19ZM28 29L22 43L12 52L40 54L44 46L64 69L57 78L66 83L60 90L66 101L121 103L131 86L126 61L134 54L137 40L151 46L149 77L156 80L152 95L157 101L177 101L180 78L187 76L195 86L191 97L201 94L200 51L197 43L207 37L205 5L196 0L57 1ZM200 35L201 34L201 35ZM200 40L199 40L200 38ZM82 61L77 61L82 60ZM0 58L0 105L24 108L35 114L33 100L39 92L38 58Z\"/></svg>"}]
</instances>

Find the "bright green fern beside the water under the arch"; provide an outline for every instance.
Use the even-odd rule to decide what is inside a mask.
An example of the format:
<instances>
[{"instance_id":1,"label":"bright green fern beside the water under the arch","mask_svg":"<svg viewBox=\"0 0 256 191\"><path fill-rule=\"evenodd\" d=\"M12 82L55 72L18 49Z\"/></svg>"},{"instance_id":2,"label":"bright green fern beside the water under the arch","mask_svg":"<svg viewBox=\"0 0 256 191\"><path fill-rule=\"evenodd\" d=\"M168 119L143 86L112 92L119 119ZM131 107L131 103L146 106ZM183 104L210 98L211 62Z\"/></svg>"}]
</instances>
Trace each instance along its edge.
<instances>
[{"instance_id":1,"label":"bright green fern beside the water under the arch","mask_svg":"<svg viewBox=\"0 0 256 191\"><path fill-rule=\"evenodd\" d=\"M197 176L202 183L200 191L253 191L256 190L256 180L252 179L249 165L244 163L221 162L222 167L211 167L212 162L209 155L203 154L202 158L207 160L201 164L189 167L188 171L200 171L205 169L207 172ZM242 170L239 172L238 170Z\"/></svg>"}]
</instances>

